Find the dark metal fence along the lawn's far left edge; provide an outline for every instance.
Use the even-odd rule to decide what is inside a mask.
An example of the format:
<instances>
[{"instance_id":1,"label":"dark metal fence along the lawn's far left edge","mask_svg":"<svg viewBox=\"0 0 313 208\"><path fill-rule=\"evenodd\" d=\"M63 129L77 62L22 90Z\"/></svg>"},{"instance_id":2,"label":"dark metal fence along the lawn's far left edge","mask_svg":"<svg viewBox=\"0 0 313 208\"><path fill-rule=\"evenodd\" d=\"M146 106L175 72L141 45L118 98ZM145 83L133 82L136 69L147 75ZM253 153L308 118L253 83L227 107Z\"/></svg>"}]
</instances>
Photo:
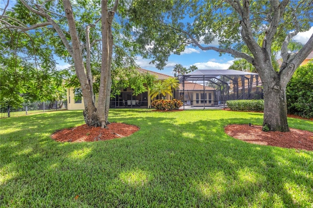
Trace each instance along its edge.
<instances>
[{"instance_id":1,"label":"dark metal fence along the lawn's far left edge","mask_svg":"<svg viewBox=\"0 0 313 208\"><path fill-rule=\"evenodd\" d=\"M0 103L0 118L24 116L60 109L67 109L67 101L27 103L22 104L20 107L12 107L7 104Z\"/></svg>"}]
</instances>

